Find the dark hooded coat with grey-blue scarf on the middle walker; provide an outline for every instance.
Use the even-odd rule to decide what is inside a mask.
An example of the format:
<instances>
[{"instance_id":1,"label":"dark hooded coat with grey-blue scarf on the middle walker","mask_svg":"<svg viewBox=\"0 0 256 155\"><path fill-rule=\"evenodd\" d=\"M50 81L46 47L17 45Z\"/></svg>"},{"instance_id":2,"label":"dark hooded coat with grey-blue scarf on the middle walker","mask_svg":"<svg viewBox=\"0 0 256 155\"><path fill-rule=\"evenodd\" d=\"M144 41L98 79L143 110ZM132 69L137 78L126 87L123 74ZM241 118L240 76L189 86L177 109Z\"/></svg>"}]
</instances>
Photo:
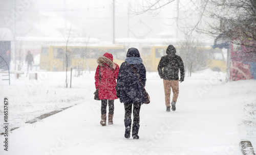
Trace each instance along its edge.
<instances>
[{"instance_id":1,"label":"dark hooded coat with grey-blue scarf on the middle walker","mask_svg":"<svg viewBox=\"0 0 256 155\"><path fill-rule=\"evenodd\" d=\"M144 103L143 87L131 66L131 64L134 65L143 86L145 86L146 69L142 64L139 50L136 48L128 49L126 57L125 62L120 66L117 77L116 90L120 94L120 102L126 104Z\"/></svg>"}]
</instances>

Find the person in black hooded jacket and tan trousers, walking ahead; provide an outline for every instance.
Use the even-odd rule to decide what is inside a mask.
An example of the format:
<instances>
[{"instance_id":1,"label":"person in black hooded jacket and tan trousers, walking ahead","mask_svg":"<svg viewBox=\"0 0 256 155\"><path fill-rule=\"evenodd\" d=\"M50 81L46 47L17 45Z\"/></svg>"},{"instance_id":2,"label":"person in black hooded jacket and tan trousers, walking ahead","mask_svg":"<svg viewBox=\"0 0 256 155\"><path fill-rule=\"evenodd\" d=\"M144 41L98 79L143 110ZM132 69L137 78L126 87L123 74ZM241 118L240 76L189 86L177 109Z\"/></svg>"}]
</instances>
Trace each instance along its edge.
<instances>
[{"instance_id":1,"label":"person in black hooded jacket and tan trousers, walking ahead","mask_svg":"<svg viewBox=\"0 0 256 155\"><path fill-rule=\"evenodd\" d=\"M158 64L158 74L163 79L166 111L170 111L170 90L173 89L172 110L176 110L177 98L179 95L179 69L180 82L184 81L184 65L180 56L177 56L176 49L169 45L166 49L166 56L163 56Z\"/></svg>"}]
</instances>

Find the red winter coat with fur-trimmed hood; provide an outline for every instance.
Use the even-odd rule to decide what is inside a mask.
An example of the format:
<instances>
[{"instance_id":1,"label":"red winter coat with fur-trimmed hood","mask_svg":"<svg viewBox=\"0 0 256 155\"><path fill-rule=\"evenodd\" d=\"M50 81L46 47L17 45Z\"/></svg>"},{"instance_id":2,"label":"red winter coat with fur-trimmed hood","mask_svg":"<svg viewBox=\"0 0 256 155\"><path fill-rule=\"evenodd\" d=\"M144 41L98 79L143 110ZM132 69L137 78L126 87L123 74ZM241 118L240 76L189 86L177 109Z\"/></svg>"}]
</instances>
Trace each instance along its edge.
<instances>
[{"instance_id":1,"label":"red winter coat with fur-trimmed hood","mask_svg":"<svg viewBox=\"0 0 256 155\"><path fill-rule=\"evenodd\" d=\"M109 53L105 53L103 56L99 57L97 61L99 65L95 72L95 87L96 89L99 88L99 99L117 99L115 88L119 66L113 62L113 56Z\"/></svg>"}]
</instances>

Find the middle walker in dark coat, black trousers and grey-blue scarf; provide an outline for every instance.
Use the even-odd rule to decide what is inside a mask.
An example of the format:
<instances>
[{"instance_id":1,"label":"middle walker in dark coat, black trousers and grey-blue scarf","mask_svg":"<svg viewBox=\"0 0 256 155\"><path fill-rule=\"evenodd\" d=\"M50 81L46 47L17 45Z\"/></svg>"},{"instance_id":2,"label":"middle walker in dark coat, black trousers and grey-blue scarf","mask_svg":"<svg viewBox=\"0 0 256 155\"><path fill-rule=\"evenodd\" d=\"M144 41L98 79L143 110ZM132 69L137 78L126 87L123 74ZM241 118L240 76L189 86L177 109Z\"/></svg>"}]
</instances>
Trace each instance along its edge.
<instances>
[{"instance_id":1,"label":"middle walker in dark coat, black trousers and grey-blue scarf","mask_svg":"<svg viewBox=\"0 0 256 155\"><path fill-rule=\"evenodd\" d=\"M139 50L136 48L130 48L127 51L125 62L121 64L119 69L116 90L120 102L124 104L124 137L130 138L132 126L131 115L133 111L132 136L133 139L139 139L140 107L145 102L145 96L143 94L143 87L133 67L139 74L143 86L145 86L146 69L142 64Z\"/></svg>"}]
</instances>

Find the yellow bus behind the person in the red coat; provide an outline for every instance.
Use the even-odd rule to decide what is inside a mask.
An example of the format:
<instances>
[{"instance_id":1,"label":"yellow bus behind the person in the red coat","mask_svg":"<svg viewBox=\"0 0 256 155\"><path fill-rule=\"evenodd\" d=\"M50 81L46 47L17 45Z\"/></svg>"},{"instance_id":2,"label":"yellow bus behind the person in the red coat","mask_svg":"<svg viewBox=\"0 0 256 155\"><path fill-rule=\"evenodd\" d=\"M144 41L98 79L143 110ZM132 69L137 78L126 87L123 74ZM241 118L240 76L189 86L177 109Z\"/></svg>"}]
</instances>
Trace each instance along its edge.
<instances>
[{"instance_id":1,"label":"yellow bus behind the person in the red coat","mask_svg":"<svg viewBox=\"0 0 256 155\"><path fill-rule=\"evenodd\" d=\"M98 66L97 59L104 53L113 55L114 62L119 66L126 58L126 48L123 45L47 45L41 47L40 69L47 71L65 71L81 67L82 69L95 70Z\"/></svg>"}]
</instances>

